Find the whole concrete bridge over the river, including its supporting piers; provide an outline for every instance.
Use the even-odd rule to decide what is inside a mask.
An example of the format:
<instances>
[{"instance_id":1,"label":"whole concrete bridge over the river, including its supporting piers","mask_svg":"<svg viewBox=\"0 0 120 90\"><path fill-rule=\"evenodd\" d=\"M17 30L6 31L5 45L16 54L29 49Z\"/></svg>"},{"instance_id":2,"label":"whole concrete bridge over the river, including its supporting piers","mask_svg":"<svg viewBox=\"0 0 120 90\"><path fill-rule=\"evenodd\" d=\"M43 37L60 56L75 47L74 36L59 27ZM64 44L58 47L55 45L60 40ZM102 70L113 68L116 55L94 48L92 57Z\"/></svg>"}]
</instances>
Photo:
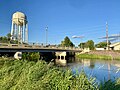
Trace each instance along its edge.
<instances>
[{"instance_id":1,"label":"whole concrete bridge over the river, including its supporting piers","mask_svg":"<svg viewBox=\"0 0 120 90\"><path fill-rule=\"evenodd\" d=\"M75 47L57 47L57 46L40 46L24 44L1 44L0 54L12 54L16 59L20 59L24 52L40 52L41 58L48 57L50 60L55 59L57 64L66 65L68 57L74 57L76 52L82 49ZM54 58L56 57L56 58Z\"/></svg>"}]
</instances>

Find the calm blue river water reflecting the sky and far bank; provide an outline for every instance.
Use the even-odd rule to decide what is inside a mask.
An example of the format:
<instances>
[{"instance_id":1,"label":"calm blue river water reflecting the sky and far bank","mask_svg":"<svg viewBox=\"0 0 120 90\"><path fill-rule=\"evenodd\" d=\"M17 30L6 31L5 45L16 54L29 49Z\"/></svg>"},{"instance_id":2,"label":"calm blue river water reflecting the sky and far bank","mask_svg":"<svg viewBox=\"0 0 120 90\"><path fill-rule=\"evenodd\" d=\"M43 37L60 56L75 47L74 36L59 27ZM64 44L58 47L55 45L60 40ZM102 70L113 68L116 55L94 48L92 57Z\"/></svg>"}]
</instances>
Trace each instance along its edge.
<instances>
[{"instance_id":1,"label":"calm blue river water reflecting the sky and far bank","mask_svg":"<svg viewBox=\"0 0 120 90\"><path fill-rule=\"evenodd\" d=\"M87 76L96 78L98 82L104 82L109 79L115 80L120 77L119 60L75 60L67 63L67 67L75 74L84 70Z\"/></svg>"}]
</instances>

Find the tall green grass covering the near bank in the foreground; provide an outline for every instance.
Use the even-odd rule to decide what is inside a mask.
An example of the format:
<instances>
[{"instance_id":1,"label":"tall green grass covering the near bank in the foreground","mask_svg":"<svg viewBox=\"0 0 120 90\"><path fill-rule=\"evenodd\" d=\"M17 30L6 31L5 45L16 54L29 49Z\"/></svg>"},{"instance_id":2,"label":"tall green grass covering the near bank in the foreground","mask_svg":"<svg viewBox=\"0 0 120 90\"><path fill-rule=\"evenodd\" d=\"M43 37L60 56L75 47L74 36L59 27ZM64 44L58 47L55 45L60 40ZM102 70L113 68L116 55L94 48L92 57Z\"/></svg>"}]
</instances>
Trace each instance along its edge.
<instances>
[{"instance_id":1,"label":"tall green grass covering the near bank in the foreground","mask_svg":"<svg viewBox=\"0 0 120 90\"><path fill-rule=\"evenodd\" d=\"M0 90L96 90L84 72L73 76L44 61L0 60Z\"/></svg>"}]
</instances>

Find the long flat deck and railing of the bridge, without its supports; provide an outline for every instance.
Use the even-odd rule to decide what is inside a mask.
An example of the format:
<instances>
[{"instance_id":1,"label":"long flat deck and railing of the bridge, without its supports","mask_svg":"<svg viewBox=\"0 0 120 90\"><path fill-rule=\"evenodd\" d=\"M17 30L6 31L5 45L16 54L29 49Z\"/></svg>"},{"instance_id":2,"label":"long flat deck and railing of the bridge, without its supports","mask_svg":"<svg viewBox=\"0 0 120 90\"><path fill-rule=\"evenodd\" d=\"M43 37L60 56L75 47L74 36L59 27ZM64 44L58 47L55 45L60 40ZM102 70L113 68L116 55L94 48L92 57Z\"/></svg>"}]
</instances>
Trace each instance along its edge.
<instances>
[{"instance_id":1,"label":"long flat deck and railing of the bridge, without its supports","mask_svg":"<svg viewBox=\"0 0 120 90\"><path fill-rule=\"evenodd\" d=\"M46 46L36 46L36 45L17 45L17 44L6 44L4 46L0 45L0 52L56 52L56 51L66 51L66 52L81 52L80 48L74 47L46 47Z\"/></svg>"}]
</instances>

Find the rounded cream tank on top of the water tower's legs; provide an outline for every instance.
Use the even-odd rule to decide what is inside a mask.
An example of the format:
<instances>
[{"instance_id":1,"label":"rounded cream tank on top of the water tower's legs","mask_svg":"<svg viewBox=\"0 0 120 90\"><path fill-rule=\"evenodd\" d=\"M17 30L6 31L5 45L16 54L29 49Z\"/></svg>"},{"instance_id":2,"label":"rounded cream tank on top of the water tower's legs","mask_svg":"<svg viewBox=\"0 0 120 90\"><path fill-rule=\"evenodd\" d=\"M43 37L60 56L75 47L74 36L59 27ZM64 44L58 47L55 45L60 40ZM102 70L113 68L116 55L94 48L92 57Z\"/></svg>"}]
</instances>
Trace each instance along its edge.
<instances>
[{"instance_id":1,"label":"rounded cream tank on top of the water tower's legs","mask_svg":"<svg viewBox=\"0 0 120 90\"><path fill-rule=\"evenodd\" d=\"M12 16L12 21L15 24L20 25L20 26L22 26L23 23L26 23L26 20L27 20L26 15L22 12L16 12Z\"/></svg>"}]
</instances>

